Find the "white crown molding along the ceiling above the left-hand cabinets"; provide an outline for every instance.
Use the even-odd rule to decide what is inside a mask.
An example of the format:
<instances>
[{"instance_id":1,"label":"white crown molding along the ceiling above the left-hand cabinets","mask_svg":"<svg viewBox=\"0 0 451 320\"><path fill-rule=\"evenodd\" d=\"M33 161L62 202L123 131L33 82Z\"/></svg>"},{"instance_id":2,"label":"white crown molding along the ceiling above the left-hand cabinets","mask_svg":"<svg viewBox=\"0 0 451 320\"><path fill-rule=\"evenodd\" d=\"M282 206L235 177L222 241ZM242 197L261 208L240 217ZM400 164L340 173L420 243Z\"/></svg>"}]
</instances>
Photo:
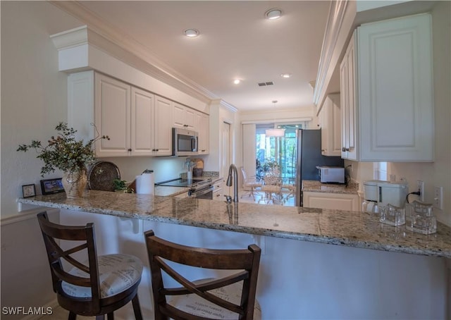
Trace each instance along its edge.
<instances>
[{"instance_id":1,"label":"white crown molding along the ceiling above the left-hand cabinets","mask_svg":"<svg viewBox=\"0 0 451 320\"><path fill-rule=\"evenodd\" d=\"M218 97L206 90L206 88L198 85L184 75L163 63L154 54L151 49L144 47L129 35L125 35L117 27L106 23L99 16L87 10L78 1L50 1L51 4L69 13L71 16L85 23L87 26L87 36L89 44L94 45L98 49L107 52L116 59L137 68L138 70L151 75L153 78L161 82L171 85L190 96L201 101L209 102ZM85 27L80 27L80 30ZM72 31L78 28L73 29ZM64 32L60 32L63 34ZM77 32L75 32L77 33ZM60 35L57 34L57 35ZM77 41L77 36L73 37ZM80 41L80 40L78 40ZM55 44L56 45L56 44ZM59 44L64 45L64 44ZM70 44L66 44L70 45ZM76 45L75 43L73 44Z\"/></svg>"}]
</instances>

